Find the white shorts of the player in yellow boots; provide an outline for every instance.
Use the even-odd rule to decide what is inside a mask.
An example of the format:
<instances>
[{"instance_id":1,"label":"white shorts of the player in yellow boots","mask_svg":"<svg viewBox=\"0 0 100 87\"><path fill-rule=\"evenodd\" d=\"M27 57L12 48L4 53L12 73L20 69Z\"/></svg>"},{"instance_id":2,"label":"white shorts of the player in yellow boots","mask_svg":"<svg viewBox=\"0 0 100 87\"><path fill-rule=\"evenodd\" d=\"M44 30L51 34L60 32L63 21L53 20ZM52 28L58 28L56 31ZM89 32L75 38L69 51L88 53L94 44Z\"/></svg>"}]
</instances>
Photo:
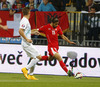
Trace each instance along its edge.
<instances>
[{"instance_id":1,"label":"white shorts of the player in yellow boots","mask_svg":"<svg viewBox=\"0 0 100 87\"><path fill-rule=\"evenodd\" d=\"M26 54L27 54L28 57L36 58L36 56L40 55L38 53L38 51L36 50L35 46L33 46L33 45L30 45L30 46L27 46L27 47L23 47L23 49L26 52Z\"/></svg>"}]
</instances>

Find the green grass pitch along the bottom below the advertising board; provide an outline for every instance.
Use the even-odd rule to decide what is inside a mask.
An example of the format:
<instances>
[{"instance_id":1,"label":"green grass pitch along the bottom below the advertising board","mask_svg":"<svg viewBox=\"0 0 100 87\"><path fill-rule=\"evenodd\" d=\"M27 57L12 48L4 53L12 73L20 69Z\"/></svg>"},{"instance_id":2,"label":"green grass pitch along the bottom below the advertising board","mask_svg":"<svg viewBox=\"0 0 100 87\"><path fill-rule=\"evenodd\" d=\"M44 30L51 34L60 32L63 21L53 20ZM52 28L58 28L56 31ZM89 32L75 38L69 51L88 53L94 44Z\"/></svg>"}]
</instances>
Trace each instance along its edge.
<instances>
[{"instance_id":1,"label":"green grass pitch along the bottom below the advertising board","mask_svg":"<svg viewBox=\"0 0 100 87\"><path fill-rule=\"evenodd\" d=\"M100 87L100 78L35 75L39 80L27 80L23 74L0 73L0 87Z\"/></svg>"}]
</instances>

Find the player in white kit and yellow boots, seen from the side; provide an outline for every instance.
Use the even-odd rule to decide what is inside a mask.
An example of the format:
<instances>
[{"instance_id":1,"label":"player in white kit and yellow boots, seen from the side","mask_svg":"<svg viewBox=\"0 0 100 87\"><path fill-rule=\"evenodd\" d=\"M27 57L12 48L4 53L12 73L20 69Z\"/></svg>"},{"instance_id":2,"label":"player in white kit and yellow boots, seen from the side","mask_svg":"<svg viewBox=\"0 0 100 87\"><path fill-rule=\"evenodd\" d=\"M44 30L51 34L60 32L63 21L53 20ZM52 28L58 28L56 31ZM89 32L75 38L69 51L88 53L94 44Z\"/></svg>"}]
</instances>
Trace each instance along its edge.
<instances>
[{"instance_id":1,"label":"player in white kit and yellow boots, seen from the side","mask_svg":"<svg viewBox=\"0 0 100 87\"><path fill-rule=\"evenodd\" d=\"M22 72L27 79L38 80L33 76L34 66L38 61L47 59L48 56L41 56L32 45L31 34L39 34L39 32L31 32L31 26L29 23L30 9L28 7L25 7L23 8L22 12L23 18L20 21L19 28L19 34L22 38L21 45L27 56L31 58L31 62L26 67L22 68ZM29 75L28 70L30 70Z\"/></svg>"}]
</instances>

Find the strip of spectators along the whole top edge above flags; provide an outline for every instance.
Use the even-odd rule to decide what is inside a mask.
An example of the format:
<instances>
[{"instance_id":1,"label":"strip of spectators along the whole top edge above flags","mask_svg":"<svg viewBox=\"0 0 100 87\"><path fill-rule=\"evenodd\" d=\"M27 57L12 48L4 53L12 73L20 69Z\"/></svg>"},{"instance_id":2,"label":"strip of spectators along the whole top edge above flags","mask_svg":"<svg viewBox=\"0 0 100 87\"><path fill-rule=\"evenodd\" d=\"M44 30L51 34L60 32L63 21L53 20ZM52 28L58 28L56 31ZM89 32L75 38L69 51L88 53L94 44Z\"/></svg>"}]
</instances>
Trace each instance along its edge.
<instances>
[{"instance_id":1,"label":"strip of spectators along the whole top edge above flags","mask_svg":"<svg viewBox=\"0 0 100 87\"><path fill-rule=\"evenodd\" d=\"M100 0L1 0L0 10L10 11L10 14L21 11L23 7L29 7L31 11L65 11L70 1L76 3L76 11L90 11L91 6L100 10Z\"/></svg>"}]
</instances>

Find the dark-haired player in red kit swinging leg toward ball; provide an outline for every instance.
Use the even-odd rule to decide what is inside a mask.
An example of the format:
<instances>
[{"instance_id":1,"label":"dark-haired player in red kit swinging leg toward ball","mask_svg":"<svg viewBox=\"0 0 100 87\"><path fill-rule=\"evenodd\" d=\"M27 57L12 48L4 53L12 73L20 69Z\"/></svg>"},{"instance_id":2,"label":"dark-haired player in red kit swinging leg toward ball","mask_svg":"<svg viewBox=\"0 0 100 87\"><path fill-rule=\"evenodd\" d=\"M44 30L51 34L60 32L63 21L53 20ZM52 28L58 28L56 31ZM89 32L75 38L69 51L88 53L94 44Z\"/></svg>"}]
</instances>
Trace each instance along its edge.
<instances>
[{"instance_id":1,"label":"dark-haired player in red kit swinging leg toward ball","mask_svg":"<svg viewBox=\"0 0 100 87\"><path fill-rule=\"evenodd\" d=\"M58 18L52 18L50 24L44 25L44 26L40 27L39 29L33 29L33 31L38 30L39 32L43 32L46 35L46 38L48 41L49 57L48 58L45 57L45 59L43 59L43 60L48 60L48 59L52 60L52 59L56 58L59 61L59 64L62 67L62 69L68 74L68 69L67 69L66 65L64 64L64 62L58 52L58 49L59 49L58 34L61 36L62 39L64 39L68 43L70 43L70 44L76 44L76 43L70 41L63 34L61 27L58 24L59 24Z\"/></svg>"}]
</instances>

